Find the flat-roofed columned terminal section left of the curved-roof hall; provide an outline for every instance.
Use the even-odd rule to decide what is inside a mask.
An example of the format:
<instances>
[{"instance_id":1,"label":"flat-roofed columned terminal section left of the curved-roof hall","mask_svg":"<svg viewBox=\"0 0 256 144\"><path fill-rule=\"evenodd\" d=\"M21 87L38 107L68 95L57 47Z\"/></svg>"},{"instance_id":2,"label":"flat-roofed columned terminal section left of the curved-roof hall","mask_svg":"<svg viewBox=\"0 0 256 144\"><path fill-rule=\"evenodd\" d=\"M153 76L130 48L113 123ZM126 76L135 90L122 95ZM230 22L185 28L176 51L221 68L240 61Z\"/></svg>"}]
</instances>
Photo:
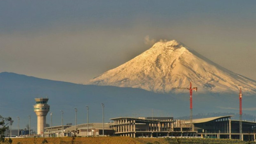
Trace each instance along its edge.
<instances>
[{"instance_id":1,"label":"flat-roofed columned terminal section left of the curved-roof hall","mask_svg":"<svg viewBox=\"0 0 256 144\"><path fill-rule=\"evenodd\" d=\"M128 137L168 137L168 136L194 136L195 131L191 130L190 124L185 121L173 121L172 117L146 117L111 118L114 123L110 128L118 136Z\"/></svg>"}]
</instances>

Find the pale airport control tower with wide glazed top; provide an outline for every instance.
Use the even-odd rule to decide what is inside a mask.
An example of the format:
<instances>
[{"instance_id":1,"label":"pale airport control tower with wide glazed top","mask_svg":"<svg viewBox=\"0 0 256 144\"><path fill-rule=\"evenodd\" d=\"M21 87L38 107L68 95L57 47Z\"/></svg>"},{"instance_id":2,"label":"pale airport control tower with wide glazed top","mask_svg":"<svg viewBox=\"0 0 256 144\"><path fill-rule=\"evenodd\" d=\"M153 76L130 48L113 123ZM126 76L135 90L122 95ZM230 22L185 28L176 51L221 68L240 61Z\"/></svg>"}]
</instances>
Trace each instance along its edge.
<instances>
[{"instance_id":1,"label":"pale airport control tower with wide glazed top","mask_svg":"<svg viewBox=\"0 0 256 144\"><path fill-rule=\"evenodd\" d=\"M46 123L46 115L50 110L50 105L47 105L48 98L35 98L36 105L34 105L34 111L37 116L37 134L44 134L44 128Z\"/></svg>"}]
</instances>

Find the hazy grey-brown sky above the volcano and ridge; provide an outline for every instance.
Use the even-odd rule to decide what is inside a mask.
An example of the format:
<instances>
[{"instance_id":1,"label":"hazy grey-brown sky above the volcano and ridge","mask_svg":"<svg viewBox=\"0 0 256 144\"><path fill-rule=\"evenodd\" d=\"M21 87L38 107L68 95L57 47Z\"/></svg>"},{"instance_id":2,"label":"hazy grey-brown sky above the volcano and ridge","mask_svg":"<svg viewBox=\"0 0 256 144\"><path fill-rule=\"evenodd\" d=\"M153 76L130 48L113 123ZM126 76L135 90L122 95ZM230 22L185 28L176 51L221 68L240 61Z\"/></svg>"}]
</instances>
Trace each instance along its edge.
<instances>
[{"instance_id":1,"label":"hazy grey-brown sky above the volcano and ridge","mask_svg":"<svg viewBox=\"0 0 256 144\"><path fill-rule=\"evenodd\" d=\"M159 39L256 80L256 0L0 1L0 72L84 83Z\"/></svg>"}]
</instances>

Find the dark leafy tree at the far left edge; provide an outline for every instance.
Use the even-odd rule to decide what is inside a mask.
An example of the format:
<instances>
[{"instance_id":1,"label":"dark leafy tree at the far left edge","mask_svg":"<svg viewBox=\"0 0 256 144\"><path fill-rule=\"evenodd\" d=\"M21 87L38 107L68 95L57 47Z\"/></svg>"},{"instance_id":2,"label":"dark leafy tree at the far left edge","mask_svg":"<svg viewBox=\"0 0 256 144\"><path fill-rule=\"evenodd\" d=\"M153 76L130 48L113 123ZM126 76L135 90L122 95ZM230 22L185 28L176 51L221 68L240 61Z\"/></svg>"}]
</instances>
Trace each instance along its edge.
<instances>
[{"instance_id":1,"label":"dark leafy tree at the far left edge","mask_svg":"<svg viewBox=\"0 0 256 144\"><path fill-rule=\"evenodd\" d=\"M9 124L12 124L12 118L4 118L0 115L0 142L5 142L5 131L9 129Z\"/></svg>"}]
</instances>

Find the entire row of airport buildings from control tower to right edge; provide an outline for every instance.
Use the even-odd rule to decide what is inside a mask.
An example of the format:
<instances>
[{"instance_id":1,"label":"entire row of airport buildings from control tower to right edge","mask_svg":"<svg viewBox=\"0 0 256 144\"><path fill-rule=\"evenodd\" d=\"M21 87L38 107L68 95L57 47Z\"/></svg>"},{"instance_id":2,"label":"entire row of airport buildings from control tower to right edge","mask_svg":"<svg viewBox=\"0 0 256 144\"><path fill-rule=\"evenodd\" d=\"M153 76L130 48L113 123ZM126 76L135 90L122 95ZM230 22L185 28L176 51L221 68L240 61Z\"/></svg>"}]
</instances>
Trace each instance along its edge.
<instances>
[{"instance_id":1,"label":"entire row of airport buildings from control tower to right edge","mask_svg":"<svg viewBox=\"0 0 256 144\"><path fill-rule=\"evenodd\" d=\"M232 116L218 116L190 120L174 120L173 117L119 117L104 123L104 136L127 137L206 137L239 139L239 121ZM79 130L77 136L102 136L102 123L64 125L45 128L45 137L72 136L73 130ZM88 130L87 130L88 128ZM242 140L256 140L256 122L242 121Z\"/></svg>"}]
</instances>

